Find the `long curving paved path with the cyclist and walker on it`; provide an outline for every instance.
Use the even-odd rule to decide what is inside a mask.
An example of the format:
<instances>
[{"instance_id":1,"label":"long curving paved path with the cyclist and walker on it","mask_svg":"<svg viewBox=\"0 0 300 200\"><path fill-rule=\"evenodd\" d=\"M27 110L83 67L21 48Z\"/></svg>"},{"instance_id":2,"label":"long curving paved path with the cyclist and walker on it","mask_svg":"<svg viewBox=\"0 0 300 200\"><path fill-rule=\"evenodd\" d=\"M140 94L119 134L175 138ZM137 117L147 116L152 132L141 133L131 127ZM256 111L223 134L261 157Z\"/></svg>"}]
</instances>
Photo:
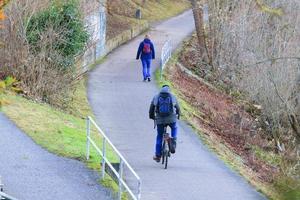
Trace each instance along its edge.
<instances>
[{"instance_id":1,"label":"long curving paved path with the cyclist and walker on it","mask_svg":"<svg viewBox=\"0 0 300 200\"><path fill-rule=\"evenodd\" d=\"M176 46L193 29L190 11L153 27L150 34L157 49L153 66L158 66L167 35ZM265 199L208 151L184 123L168 169L152 160L155 131L148 108L158 89L153 82L142 82L141 64L134 60L141 39L121 46L90 73L88 96L98 123L140 175L142 199Z\"/></svg>"}]
</instances>

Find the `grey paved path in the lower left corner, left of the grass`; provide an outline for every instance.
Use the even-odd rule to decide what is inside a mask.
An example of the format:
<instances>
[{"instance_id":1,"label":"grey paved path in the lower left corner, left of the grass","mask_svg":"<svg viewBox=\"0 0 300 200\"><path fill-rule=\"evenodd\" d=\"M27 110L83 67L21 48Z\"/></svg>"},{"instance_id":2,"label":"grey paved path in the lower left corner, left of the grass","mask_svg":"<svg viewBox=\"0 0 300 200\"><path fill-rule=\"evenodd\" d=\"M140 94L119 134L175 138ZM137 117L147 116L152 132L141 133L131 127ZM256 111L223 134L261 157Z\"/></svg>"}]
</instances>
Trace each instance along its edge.
<instances>
[{"instance_id":1,"label":"grey paved path in the lower left corner, left of the grass","mask_svg":"<svg viewBox=\"0 0 300 200\"><path fill-rule=\"evenodd\" d=\"M0 113L0 176L7 194L19 200L108 200L109 191L83 163L36 145Z\"/></svg>"}]
</instances>

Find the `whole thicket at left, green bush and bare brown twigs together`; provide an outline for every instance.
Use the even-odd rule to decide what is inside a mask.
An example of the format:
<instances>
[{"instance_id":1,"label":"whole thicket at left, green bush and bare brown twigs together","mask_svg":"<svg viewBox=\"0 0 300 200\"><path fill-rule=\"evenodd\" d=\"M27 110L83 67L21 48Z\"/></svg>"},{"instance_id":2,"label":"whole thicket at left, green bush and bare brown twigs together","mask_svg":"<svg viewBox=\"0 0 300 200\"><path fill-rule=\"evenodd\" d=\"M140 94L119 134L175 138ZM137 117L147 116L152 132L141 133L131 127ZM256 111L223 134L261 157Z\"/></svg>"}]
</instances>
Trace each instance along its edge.
<instances>
[{"instance_id":1,"label":"whole thicket at left, green bush and bare brown twigs together","mask_svg":"<svg viewBox=\"0 0 300 200\"><path fill-rule=\"evenodd\" d=\"M80 13L76 0L12 1L0 31L0 74L20 80L34 100L67 105L89 38Z\"/></svg>"}]
</instances>

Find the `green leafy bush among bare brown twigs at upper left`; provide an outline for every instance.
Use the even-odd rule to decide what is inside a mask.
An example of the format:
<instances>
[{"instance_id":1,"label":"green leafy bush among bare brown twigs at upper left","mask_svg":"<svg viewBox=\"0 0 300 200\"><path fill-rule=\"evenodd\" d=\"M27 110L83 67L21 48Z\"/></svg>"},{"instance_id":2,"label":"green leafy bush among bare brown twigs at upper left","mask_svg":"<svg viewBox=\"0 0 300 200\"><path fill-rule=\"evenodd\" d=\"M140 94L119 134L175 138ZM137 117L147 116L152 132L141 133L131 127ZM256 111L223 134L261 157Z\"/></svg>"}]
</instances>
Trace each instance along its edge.
<instances>
[{"instance_id":1,"label":"green leafy bush among bare brown twigs at upper left","mask_svg":"<svg viewBox=\"0 0 300 200\"><path fill-rule=\"evenodd\" d=\"M55 1L29 19L26 37L34 54L41 51L41 41L48 31L55 33L47 36L53 37L49 45L57 52L49 58L64 68L74 66L75 57L83 52L88 40L77 1Z\"/></svg>"}]
</instances>

